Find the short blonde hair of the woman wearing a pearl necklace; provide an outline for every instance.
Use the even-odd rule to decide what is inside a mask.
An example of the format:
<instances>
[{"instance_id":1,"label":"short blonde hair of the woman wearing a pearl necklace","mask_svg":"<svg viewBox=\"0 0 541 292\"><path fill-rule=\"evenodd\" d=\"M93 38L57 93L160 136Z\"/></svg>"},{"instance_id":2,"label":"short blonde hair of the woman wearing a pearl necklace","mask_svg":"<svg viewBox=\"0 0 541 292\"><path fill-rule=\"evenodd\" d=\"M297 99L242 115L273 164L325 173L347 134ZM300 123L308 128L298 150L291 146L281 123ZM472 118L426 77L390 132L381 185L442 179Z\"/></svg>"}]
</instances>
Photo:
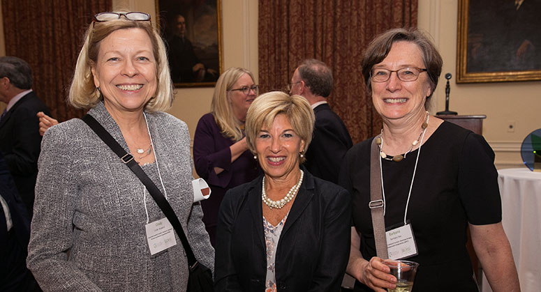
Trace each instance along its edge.
<instances>
[{"instance_id":1,"label":"short blonde hair of the woman wearing a pearl necklace","mask_svg":"<svg viewBox=\"0 0 541 292\"><path fill-rule=\"evenodd\" d=\"M250 151L255 152L255 139L260 130L265 126L270 128L274 118L279 114L285 114L293 131L304 140L306 152L312 141L313 124L316 116L308 101L301 95L288 95L282 91L271 91L256 98L246 114L246 144ZM302 157L300 162L304 162Z\"/></svg>"}]
</instances>

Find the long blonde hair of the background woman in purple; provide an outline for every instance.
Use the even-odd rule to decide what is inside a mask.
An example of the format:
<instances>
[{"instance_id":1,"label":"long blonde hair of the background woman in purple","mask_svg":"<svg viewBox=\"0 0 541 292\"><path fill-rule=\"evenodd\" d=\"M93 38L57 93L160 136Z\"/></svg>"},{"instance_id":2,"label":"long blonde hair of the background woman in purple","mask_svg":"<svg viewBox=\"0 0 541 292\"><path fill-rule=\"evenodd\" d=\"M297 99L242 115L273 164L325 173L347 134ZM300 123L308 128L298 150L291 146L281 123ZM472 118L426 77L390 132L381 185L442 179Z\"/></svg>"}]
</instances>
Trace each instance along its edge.
<instances>
[{"instance_id":1,"label":"long blonde hair of the background woman in purple","mask_svg":"<svg viewBox=\"0 0 541 292\"><path fill-rule=\"evenodd\" d=\"M232 89L233 85L244 74L250 75L252 81L254 80L252 72L247 69L233 67L225 70L216 82L210 105L210 112L214 116L214 121L216 121L222 135L231 138L233 141L239 141L243 137L242 121L239 121L233 113L231 102L228 98L228 91Z\"/></svg>"}]
</instances>

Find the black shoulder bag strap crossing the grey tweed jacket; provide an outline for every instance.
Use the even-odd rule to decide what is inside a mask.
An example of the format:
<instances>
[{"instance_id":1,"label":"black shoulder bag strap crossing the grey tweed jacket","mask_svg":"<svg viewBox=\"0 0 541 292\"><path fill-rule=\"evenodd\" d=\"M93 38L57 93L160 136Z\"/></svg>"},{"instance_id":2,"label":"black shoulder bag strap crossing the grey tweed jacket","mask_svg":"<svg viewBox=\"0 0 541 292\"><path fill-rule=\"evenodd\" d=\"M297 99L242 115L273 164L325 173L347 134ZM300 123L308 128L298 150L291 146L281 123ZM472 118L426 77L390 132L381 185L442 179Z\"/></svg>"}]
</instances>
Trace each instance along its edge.
<instances>
[{"instance_id":1,"label":"black shoulder bag strap crossing the grey tweed jacket","mask_svg":"<svg viewBox=\"0 0 541 292\"><path fill-rule=\"evenodd\" d=\"M184 233L184 229L182 229L182 225L179 222L179 218L177 215L175 215L175 211L171 208L171 205L169 202L163 197L163 194L161 191L156 187L154 182L147 176L147 174L142 170L142 168L139 166L137 162L133 159L133 155L130 153L127 153L122 146L115 140L105 128L103 128L103 125L101 125L96 119L87 114L82 117L82 121L84 123L87 123L89 127L96 132L96 135L100 137L107 146L111 148L111 150L119 155L120 159L124 162L124 164L128 165L130 167L131 171L141 180L143 185L147 187L147 190L151 194L152 198L154 198L154 201L158 204L158 207L162 210L163 214L165 214L165 217L169 220L169 222L172 224L172 226L175 228L175 231L177 231L177 235L180 238L180 241L182 242L182 245L184 246L184 250L186 251L186 256L188 257L188 265L190 270L193 270L195 266L197 266L198 261L195 259L195 255L193 255L193 251L190 247L190 243L188 243L188 238L186 238L186 234Z\"/></svg>"}]
</instances>

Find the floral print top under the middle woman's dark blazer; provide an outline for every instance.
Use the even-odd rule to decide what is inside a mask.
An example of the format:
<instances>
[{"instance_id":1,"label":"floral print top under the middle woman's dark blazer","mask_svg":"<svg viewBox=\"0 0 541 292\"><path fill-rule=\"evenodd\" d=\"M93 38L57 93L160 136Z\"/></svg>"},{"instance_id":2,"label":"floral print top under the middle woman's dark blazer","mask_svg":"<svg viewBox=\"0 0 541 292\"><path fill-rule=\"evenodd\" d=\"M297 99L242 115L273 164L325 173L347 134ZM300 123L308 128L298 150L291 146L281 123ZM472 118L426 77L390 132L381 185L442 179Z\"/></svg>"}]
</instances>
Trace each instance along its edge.
<instances>
[{"instance_id":1,"label":"floral print top under the middle woman's dark blazer","mask_svg":"<svg viewBox=\"0 0 541 292\"><path fill-rule=\"evenodd\" d=\"M267 279L265 279L265 292L276 292L276 272L274 263L276 262L276 247L282 233L283 224L286 224L289 213L283 217L282 221L276 226L270 224L263 217L263 231L265 232L265 245L267 245Z\"/></svg>"}]
</instances>

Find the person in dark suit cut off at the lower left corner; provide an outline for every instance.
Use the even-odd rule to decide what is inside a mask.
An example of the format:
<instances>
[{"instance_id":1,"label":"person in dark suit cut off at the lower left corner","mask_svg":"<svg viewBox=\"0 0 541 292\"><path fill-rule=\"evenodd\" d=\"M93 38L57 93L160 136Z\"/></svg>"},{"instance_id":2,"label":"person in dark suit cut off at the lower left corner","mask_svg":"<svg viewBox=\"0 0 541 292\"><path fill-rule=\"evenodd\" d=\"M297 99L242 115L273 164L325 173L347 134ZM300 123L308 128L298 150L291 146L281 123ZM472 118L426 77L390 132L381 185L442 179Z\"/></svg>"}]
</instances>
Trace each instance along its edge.
<instances>
[{"instance_id":1,"label":"person in dark suit cut off at the lower left corner","mask_svg":"<svg viewBox=\"0 0 541 292\"><path fill-rule=\"evenodd\" d=\"M0 152L0 291L39 291L27 269L30 217Z\"/></svg>"}]
</instances>

